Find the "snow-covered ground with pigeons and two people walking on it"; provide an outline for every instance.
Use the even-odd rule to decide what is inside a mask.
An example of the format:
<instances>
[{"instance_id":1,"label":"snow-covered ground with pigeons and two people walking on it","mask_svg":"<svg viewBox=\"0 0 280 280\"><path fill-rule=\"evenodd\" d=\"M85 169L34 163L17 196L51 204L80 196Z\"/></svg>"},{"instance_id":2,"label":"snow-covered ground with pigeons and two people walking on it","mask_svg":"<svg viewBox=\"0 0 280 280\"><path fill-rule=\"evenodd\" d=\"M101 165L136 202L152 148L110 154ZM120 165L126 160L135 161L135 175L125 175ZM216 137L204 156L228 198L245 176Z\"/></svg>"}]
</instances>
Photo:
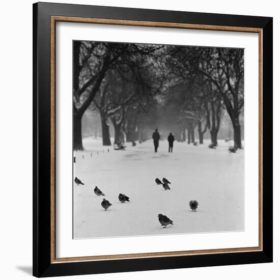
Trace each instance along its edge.
<instances>
[{"instance_id":1,"label":"snow-covered ground with pigeons and two people walking on it","mask_svg":"<svg viewBox=\"0 0 280 280\"><path fill-rule=\"evenodd\" d=\"M74 178L85 184L73 186L74 238L244 230L243 150L229 153L233 143L223 140L213 150L209 143L175 142L171 154L167 141L154 153L151 140L114 151L103 147L101 139L84 139L86 151L74 153ZM171 190L156 185L157 177L167 178ZM94 194L95 186L105 197ZM131 202L120 203L119 193ZM103 198L113 204L107 211L101 207ZM199 202L197 212L191 212L190 200ZM174 225L163 229L159 213Z\"/></svg>"}]
</instances>

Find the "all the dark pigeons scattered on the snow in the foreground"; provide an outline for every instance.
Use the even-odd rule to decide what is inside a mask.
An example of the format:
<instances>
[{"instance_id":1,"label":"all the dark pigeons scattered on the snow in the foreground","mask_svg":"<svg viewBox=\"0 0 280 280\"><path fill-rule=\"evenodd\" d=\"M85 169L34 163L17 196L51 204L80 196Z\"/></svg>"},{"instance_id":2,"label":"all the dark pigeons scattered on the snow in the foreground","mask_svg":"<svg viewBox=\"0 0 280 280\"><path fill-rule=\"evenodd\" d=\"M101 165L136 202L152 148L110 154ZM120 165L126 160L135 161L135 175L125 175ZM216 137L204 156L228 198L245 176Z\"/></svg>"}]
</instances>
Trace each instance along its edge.
<instances>
[{"instance_id":1,"label":"all the dark pigeons scattered on the snow in the foreground","mask_svg":"<svg viewBox=\"0 0 280 280\"><path fill-rule=\"evenodd\" d=\"M171 182L169 180L167 180L166 178L163 178L162 179L162 182L156 178L156 183L157 185L162 185L162 187L164 188L164 190L168 190L170 189L170 186L169 184L171 184ZM77 177L75 177L74 179L74 182L77 184L77 185L84 185L80 179L78 179ZM100 195L105 195L97 186L94 188L94 193L99 197ZM125 194L123 193L120 193L119 194L119 201L121 203L125 203L125 202L130 202L129 200L129 197L127 197ZM198 208L198 205L199 203L196 201L196 200L191 200L189 202L189 207L191 209L191 211L195 211L197 210ZM110 207L112 206L112 204L106 200L106 199L103 199L102 202L101 202L101 206L105 209L105 211ZM163 229L166 228L166 226L168 225L174 225L173 224L173 220L171 220L169 217L165 216L165 215L162 215L162 214L158 214L158 220L161 224L161 226L163 226Z\"/></svg>"}]
</instances>

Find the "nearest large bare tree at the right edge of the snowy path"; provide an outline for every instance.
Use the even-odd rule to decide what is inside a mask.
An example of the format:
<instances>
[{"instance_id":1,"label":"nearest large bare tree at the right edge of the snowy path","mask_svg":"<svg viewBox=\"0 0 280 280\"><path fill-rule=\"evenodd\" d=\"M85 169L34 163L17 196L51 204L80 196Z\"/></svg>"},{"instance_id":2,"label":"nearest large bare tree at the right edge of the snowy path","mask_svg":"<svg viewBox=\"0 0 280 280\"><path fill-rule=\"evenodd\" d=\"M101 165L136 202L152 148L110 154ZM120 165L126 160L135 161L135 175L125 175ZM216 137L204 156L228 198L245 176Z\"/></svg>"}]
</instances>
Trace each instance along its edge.
<instances>
[{"instance_id":1,"label":"nearest large bare tree at the right edge of the snowy path","mask_svg":"<svg viewBox=\"0 0 280 280\"><path fill-rule=\"evenodd\" d=\"M208 48L201 53L199 71L215 85L231 118L234 145L242 148L239 115L244 105L244 50Z\"/></svg>"}]
</instances>

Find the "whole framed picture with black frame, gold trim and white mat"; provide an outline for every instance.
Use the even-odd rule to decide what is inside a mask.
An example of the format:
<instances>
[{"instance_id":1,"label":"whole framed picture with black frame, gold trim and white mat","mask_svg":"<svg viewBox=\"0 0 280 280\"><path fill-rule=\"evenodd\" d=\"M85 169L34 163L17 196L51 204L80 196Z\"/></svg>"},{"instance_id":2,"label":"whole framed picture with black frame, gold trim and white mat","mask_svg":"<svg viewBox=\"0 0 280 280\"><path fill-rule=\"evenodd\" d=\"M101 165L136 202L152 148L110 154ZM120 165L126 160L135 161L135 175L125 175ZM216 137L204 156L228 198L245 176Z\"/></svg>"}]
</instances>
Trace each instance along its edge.
<instances>
[{"instance_id":1,"label":"whole framed picture with black frame, gold trim and white mat","mask_svg":"<svg viewBox=\"0 0 280 280\"><path fill-rule=\"evenodd\" d=\"M34 276L272 262L272 18L33 22Z\"/></svg>"}]
</instances>

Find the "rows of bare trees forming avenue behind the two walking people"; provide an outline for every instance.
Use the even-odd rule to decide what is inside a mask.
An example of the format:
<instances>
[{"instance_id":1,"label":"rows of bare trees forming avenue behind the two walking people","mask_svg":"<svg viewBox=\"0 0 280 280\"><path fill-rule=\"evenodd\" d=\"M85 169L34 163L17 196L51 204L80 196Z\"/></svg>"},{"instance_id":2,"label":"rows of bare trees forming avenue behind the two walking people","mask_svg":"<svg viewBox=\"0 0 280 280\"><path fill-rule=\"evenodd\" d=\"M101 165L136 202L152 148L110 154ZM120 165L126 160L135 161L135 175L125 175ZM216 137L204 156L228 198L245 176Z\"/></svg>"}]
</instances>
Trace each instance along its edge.
<instances>
[{"instance_id":1,"label":"rows of bare trees forming avenue behind the two walking people","mask_svg":"<svg viewBox=\"0 0 280 280\"><path fill-rule=\"evenodd\" d=\"M100 117L102 141L139 142L164 125L178 141L217 146L228 115L241 145L244 105L243 49L134 43L73 42L73 149L83 150L82 117ZM88 121L93 127L96 120ZM109 126L114 127L110 135ZM94 130L94 128L93 128Z\"/></svg>"}]
</instances>

